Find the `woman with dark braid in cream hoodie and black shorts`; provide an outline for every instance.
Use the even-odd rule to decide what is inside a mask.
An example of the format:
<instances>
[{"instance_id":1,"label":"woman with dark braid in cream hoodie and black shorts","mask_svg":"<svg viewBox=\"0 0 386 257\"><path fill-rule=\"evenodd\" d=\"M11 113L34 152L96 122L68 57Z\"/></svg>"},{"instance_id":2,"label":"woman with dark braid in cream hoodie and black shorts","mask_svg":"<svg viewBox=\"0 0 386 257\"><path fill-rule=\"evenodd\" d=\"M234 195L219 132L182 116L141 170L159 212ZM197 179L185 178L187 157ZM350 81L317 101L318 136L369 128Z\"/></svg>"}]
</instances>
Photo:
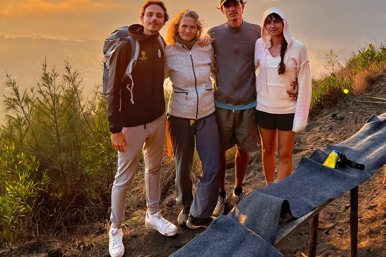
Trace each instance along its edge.
<instances>
[{"instance_id":1,"label":"woman with dark braid in cream hoodie and black shorts","mask_svg":"<svg viewBox=\"0 0 386 257\"><path fill-rule=\"evenodd\" d=\"M293 39L284 14L277 8L264 13L262 38L256 41L255 65L257 106L256 124L262 143L262 160L268 185L274 181L275 150L278 138L277 180L292 173L292 153L296 133L307 124L311 102L311 73L306 46ZM297 101L287 91L298 80Z\"/></svg>"}]
</instances>

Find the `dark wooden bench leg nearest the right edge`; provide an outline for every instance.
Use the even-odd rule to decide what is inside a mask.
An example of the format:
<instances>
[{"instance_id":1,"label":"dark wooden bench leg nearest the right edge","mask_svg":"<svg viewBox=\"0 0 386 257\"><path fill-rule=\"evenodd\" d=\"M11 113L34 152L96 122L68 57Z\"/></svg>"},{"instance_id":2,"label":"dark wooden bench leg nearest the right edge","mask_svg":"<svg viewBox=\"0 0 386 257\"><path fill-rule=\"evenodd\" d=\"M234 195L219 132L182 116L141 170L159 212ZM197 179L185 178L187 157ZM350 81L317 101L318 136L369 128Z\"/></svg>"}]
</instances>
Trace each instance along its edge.
<instances>
[{"instance_id":1,"label":"dark wooden bench leg nearest the right edge","mask_svg":"<svg viewBox=\"0 0 386 257\"><path fill-rule=\"evenodd\" d=\"M350 239L351 257L358 256L358 187L350 190Z\"/></svg>"}]
</instances>

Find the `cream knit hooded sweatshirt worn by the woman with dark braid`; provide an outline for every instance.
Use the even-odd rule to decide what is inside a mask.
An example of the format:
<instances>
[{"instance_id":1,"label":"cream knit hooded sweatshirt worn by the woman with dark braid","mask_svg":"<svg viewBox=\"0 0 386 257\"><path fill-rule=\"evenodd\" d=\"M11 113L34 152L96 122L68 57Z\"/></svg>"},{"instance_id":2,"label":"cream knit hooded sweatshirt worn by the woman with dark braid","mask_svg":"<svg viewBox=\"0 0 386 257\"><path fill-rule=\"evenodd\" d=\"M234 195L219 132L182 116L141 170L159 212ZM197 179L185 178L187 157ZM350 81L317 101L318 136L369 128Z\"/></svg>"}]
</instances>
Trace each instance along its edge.
<instances>
[{"instance_id":1,"label":"cream knit hooded sweatshirt worn by the woman with dark braid","mask_svg":"<svg viewBox=\"0 0 386 257\"><path fill-rule=\"evenodd\" d=\"M306 45L292 38L291 31L284 14L277 8L269 8L263 18L272 13L278 14L283 20L283 35L288 43L284 54L285 72L277 72L281 61L280 55L272 57L271 36L262 26L262 38L255 44L255 65L259 66L256 77L257 105L256 109L268 113L295 113L292 131L302 132L307 125L311 102L311 72ZM291 101L287 91L292 90L291 82L298 78L299 94L297 101Z\"/></svg>"}]
</instances>

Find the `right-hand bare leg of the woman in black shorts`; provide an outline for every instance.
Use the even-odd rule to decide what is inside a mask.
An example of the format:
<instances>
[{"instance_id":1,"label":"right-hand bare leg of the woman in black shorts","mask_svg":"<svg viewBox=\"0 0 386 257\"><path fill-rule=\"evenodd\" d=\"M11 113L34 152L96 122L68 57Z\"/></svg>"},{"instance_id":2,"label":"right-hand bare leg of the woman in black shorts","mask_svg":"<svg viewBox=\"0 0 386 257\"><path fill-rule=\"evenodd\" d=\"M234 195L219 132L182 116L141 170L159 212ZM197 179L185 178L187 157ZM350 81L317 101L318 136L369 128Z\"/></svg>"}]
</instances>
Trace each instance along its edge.
<instances>
[{"instance_id":1,"label":"right-hand bare leg of the woman in black shorts","mask_svg":"<svg viewBox=\"0 0 386 257\"><path fill-rule=\"evenodd\" d=\"M279 167L277 168L277 181L292 174L292 152L295 137L296 133L293 131L278 131Z\"/></svg>"}]
</instances>

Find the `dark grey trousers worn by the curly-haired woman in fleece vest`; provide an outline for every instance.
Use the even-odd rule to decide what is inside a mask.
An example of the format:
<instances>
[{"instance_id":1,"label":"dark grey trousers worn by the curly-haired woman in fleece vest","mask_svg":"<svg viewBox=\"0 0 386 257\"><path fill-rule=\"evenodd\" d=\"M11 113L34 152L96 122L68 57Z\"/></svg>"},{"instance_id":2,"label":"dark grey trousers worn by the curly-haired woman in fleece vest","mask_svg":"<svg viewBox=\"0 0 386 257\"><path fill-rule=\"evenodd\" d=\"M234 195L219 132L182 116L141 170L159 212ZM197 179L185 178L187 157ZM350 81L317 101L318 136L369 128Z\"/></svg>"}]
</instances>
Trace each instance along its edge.
<instances>
[{"instance_id":1,"label":"dark grey trousers worn by the curly-haired woman in fleece vest","mask_svg":"<svg viewBox=\"0 0 386 257\"><path fill-rule=\"evenodd\" d=\"M179 118L168 114L171 144L176 164L176 201L190 208L196 218L208 218L217 204L220 190L220 135L216 114L195 120ZM199 154L203 174L192 194L192 165L196 149Z\"/></svg>"}]
</instances>

